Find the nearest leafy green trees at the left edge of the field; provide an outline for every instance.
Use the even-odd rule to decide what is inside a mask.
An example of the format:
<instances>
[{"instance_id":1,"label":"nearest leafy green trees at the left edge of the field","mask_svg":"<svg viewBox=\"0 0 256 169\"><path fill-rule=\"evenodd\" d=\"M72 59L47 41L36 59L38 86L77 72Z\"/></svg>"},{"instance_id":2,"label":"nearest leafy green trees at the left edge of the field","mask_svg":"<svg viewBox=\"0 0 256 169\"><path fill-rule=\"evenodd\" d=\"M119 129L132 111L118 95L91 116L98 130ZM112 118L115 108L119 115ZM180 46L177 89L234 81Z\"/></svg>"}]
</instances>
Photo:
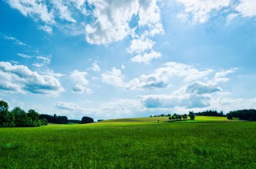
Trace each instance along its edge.
<instances>
[{"instance_id":1,"label":"nearest leafy green trees at the left edge of the field","mask_svg":"<svg viewBox=\"0 0 256 169\"><path fill-rule=\"evenodd\" d=\"M9 111L9 105L0 101L0 127L39 127L47 125L47 119L40 118L39 113L30 109L28 113L20 107Z\"/></svg>"}]
</instances>

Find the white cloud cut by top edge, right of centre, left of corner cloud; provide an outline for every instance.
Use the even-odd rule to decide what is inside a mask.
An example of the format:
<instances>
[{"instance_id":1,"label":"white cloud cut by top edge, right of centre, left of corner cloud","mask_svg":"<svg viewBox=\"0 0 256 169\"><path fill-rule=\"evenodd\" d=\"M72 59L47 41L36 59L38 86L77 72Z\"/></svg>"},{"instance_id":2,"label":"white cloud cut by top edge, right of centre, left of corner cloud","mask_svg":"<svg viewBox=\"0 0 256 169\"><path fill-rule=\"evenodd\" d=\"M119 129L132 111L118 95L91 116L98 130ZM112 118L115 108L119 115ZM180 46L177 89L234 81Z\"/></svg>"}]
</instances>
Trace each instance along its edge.
<instances>
[{"instance_id":1,"label":"white cloud cut by top edge, right of centre, left of corner cloud","mask_svg":"<svg viewBox=\"0 0 256 169\"><path fill-rule=\"evenodd\" d=\"M186 18L187 15L192 15L193 21L204 23L210 17L210 13L214 10L219 11L224 7L228 7L230 0L177 0L183 3L185 11L179 14L179 17Z\"/></svg>"}]
</instances>

